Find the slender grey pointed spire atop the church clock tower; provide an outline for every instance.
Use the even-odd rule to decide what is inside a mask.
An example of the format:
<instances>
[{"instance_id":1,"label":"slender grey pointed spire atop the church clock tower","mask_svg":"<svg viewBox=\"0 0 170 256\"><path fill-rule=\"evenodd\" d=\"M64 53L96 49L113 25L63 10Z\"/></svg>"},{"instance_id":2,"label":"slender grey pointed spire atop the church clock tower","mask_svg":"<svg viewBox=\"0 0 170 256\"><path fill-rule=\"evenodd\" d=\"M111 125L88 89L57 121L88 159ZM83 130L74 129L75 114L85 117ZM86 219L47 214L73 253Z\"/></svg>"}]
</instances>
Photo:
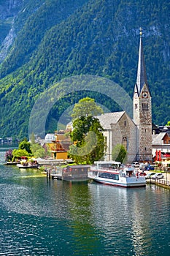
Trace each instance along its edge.
<instances>
[{"instance_id":1,"label":"slender grey pointed spire atop the church clock tower","mask_svg":"<svg viewBox=\"0 0 170 256\"><path fill-rule=\"evenodd\" d=\"M140 28L139 59L138 59L137 79L136 79L136 87L139 95L142 91L144 84L146 84L147 86L147 75L146 75L146 69L144 64L144 53L143 53L143 45L142 45L142 28Z\"/></svg>"}]
</instances>

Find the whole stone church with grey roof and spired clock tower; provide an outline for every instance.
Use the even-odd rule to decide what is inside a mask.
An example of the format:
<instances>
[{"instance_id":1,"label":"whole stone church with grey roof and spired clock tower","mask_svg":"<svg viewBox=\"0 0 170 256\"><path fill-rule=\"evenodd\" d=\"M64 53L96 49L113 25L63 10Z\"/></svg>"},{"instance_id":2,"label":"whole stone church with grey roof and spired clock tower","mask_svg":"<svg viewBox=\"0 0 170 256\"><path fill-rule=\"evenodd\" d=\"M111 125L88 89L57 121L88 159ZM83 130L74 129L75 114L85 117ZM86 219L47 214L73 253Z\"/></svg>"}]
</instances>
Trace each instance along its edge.
<instances>
[{"instance_id":1,"label":"whole stone church with grey roof and spired clock tower","mask_svg":"<svg viewBox=\"0 0 170 256\"><path fill-rule=\"evenodd\" d=\"M124 111L98 116L107 141L106 160L112 159L112 149L117 144L127 149L128 162L152 160L152 104L144 65L142 29L133 102L133 120Z\"/></svg>"}]
</instances>

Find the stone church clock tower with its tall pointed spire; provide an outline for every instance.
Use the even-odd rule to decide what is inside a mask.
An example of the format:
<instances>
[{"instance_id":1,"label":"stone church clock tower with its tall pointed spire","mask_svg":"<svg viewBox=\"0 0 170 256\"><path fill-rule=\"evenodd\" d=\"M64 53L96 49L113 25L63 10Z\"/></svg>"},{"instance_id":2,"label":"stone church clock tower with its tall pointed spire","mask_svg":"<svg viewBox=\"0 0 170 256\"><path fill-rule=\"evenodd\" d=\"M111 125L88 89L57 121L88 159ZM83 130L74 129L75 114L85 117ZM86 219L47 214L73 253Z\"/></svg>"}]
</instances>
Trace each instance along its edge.
<instances>
[{"instance_id":1,"label":"stone church clock tower with its tall pointed spire","mask_svg":"<svg viewBox=\"0 0 170 256\"><path fill-rule=\"evenodd\" d=\"M144 64L142 29L140 29L139 61L134 86L134 123L136 124L136 160L152 160L152 102Z\"/></svg>"}]
</instances>

